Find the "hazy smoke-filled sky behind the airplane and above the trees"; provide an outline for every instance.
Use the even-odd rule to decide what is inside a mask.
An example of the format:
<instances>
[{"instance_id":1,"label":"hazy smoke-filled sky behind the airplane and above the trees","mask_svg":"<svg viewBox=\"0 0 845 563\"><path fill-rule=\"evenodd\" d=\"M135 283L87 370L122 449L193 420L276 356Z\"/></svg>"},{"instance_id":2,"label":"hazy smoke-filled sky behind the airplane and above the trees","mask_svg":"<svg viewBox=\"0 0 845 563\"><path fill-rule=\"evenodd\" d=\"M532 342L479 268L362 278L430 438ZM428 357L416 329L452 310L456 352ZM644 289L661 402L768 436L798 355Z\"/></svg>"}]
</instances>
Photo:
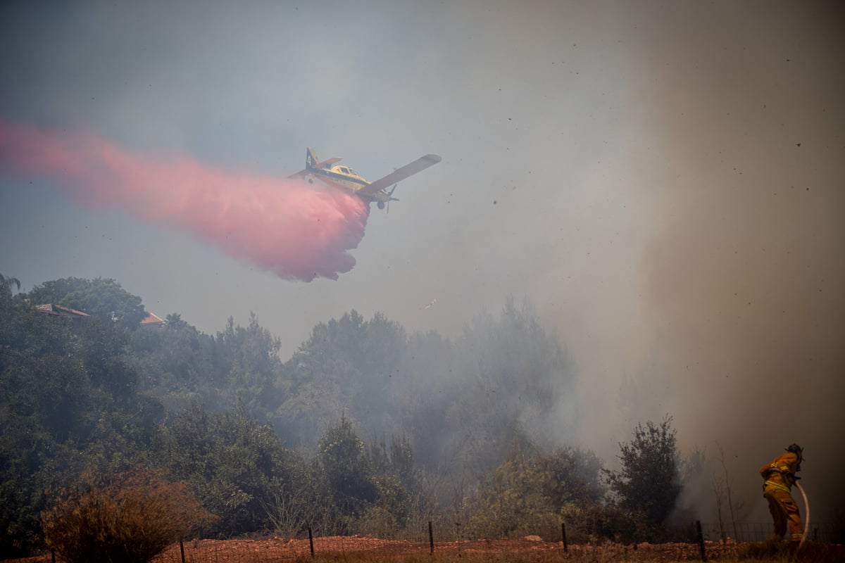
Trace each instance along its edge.
<instances>
[{"instance_id":1,"label":"hazy smoke-filled sky behind the airplane and above the trees","mask_svg":"<svg viewBox=\"0 0 845 563\"><path fill-rule=\"evenodd\" d=\"M24 290L117 279L210 333L255 311L285 357L353 308L454 335L527 296L580 366L597 452L673 414L685 449L725 448L765 519L756 471L799 441L830 514L845 504L843 24L833 2L3 3L7 134L93 135L226 177L284 178L309 145L370 180L443 161L402 181L390 214L373 206L351 270L303 282L233 250L239 233L75 198L73 178L7 158L0 272ZM269 247L303 241L266 231Z\"/></svg>"}]
</instances>

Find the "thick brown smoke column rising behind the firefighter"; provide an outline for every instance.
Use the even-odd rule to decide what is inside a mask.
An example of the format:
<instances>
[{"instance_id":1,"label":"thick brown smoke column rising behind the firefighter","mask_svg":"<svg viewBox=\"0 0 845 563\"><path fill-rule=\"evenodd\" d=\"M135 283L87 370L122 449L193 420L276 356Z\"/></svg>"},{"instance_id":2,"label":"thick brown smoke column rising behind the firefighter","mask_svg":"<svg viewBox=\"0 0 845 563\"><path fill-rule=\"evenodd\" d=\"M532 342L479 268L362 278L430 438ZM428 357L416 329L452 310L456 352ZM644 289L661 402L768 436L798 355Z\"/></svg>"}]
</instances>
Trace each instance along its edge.
<instances>
[{"instance_id":1,"label":"thick brown smoke column rising behind the firefighter","mask_svg":"<svg viewBox=\"0 0 845 563\"><path fill-rule=\"evenodd\" d=\"M757 468L799 442L829 518L845 499L842 9L770 7L658 20L643 295L684 440L724 448L761 519Z\"/></svg>"}]
</instances>

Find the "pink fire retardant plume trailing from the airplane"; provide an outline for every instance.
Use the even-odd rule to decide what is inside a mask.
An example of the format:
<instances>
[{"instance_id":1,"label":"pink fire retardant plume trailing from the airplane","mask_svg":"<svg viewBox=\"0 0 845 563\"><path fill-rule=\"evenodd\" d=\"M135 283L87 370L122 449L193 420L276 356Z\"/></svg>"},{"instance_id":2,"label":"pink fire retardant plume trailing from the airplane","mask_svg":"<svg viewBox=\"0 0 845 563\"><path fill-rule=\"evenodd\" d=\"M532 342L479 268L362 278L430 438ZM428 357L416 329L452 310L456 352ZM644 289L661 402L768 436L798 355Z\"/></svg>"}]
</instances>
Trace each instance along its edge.
<instances>
[{"instance_id":1,"label":"pink fire retardant plume trailing from the airplane","mask_svg":"<svg viewBox=\"0 0 845 563\"><path fill-rule=\"evenodd\" d=\"M337 279L355 265L369 208L348 192L127 151L91 133L0 119L0 165L48 176L88 208L120 208L210 241L284 279Z\"/></svg>"}]
</instances>

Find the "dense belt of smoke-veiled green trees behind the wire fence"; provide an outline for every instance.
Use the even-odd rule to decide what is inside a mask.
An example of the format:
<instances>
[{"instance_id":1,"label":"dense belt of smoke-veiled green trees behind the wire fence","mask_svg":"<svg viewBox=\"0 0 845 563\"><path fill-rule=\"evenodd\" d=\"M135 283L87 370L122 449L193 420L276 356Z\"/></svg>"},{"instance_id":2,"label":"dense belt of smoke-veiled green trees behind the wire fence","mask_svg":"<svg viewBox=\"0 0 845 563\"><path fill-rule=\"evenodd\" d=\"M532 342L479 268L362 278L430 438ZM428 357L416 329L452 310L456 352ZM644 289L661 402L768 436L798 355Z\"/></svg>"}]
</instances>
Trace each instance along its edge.
<instances>
[{"instance_id":1,"label":"dense belt of smoke-veiled green trees behind the wire fence","mask_svg":"<svg viewBox=\"0 0 845 563\"><path fill-rule=\"evenodd\" d=\"M0 276L0 556L42 544L57 491L139 467L184 483L218 537L401 537L430 520L469 537L557 537L564 520L614 537L636 533L634 513L661 525L677 496L668 420L620 445L609 497L595 454L554 449L575 367L528 303L454 339L350 311L282 360L255 315L214 335L176 313L139 328L140 298L114 280L16 289Z\"/></svg>"}]
</instances>

